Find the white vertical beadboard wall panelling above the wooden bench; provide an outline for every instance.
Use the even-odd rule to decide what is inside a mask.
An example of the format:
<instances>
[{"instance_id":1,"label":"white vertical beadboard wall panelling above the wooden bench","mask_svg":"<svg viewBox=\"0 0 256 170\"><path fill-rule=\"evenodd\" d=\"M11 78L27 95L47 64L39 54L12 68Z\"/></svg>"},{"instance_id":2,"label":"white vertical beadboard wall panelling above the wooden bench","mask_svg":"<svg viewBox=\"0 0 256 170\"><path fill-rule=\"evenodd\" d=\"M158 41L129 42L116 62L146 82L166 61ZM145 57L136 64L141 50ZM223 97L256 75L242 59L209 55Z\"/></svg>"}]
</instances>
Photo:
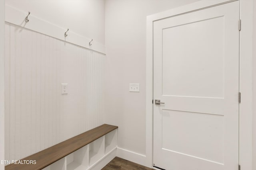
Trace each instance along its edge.
<instances>
[{"instance_id":1,"label":"white vertical beadboard wall panelling above the wooden bench","mask_svg":"<svg viewBox=\"0 0 256 170\"><path fill-rule=\"evenodd\" d=\"M6 23L6 160L102 125L105 55ZM68 83L68 95L61 94Z\"/></svg>"}]
</instances>

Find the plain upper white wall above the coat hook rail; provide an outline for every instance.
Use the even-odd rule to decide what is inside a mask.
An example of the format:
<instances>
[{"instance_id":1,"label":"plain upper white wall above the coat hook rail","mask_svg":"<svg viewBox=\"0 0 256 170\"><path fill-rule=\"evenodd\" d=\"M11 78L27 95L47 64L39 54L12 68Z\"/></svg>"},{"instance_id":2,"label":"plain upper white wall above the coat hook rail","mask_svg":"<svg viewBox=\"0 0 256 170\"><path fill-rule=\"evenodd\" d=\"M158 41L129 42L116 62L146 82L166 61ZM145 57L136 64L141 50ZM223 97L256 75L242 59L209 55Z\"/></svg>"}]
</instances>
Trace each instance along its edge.
<instances>
[{"instance_id":1,"label":"plain upper white wall above the coat hook rail","mask_svg":"<svg viewBox=\"0 0 256 170\"><path fill-rule=\"evenodd\" d=\"M105 0L6 0L6 5L104 44Z\"/></svg>"}]
</instances>

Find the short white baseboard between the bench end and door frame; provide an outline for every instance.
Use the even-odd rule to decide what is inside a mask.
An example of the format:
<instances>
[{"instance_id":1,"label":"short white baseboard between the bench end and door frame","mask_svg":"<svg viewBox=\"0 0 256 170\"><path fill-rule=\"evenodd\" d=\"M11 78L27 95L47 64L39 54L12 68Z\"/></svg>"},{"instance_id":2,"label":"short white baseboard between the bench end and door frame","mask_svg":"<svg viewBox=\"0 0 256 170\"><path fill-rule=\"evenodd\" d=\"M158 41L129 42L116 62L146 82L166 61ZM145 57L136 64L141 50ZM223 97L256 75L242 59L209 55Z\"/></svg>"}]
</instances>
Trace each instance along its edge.
<instances>
[{"instance_id":1,"label":"short white baseboard between the bench end and door frame","mask_svg":"<svg viewBox=\"0 0 256 170\"><path fill-rule=\"evenodd\" d=\"M116 156L146 166L146 155L132 152L130 150L117 148ZM151 166L150 166L151 167Z\"/></svg>"}]
</instances>

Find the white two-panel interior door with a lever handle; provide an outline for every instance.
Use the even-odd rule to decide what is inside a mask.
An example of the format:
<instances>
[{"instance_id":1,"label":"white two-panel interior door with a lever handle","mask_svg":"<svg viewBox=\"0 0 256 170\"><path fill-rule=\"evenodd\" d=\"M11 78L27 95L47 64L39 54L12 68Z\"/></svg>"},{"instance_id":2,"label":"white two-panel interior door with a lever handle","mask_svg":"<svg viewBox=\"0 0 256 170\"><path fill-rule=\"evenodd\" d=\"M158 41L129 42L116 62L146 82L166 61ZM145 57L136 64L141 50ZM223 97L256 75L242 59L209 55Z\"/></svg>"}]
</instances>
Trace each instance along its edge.
<instances>
[{"instance_id":1,"label":"white two-panel interior door with a lever handle","mask_svg":"<svg viewBox=\"0 0 256 170\"><path fill-rule=\"evenodd\" d=\"M153 163L238 170L239 2L154 22Z\"/></svg>"}]
</instances>

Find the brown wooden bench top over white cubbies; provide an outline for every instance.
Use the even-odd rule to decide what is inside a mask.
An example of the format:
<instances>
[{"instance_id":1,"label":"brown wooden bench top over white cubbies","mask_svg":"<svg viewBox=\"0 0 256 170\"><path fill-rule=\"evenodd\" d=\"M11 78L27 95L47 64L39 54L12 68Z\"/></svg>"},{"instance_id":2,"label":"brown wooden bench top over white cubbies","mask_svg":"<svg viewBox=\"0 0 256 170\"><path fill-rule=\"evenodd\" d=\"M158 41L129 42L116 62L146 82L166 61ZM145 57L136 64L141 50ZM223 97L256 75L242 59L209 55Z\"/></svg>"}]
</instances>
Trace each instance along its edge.
<instances>
[{"instance_id":1,"label":"brown wooden bench top over white cubbies","mask_svg":"<svg viewBox=\"0 0 256 170\"><path fill-rule=\"evenodd\" d=\"M108 124L98 126L50 148L21 159L36 160L36 164L9 164L5 166L5 170L41 170L117 128L117 126Z\"/></svg>"}]
</instances>

